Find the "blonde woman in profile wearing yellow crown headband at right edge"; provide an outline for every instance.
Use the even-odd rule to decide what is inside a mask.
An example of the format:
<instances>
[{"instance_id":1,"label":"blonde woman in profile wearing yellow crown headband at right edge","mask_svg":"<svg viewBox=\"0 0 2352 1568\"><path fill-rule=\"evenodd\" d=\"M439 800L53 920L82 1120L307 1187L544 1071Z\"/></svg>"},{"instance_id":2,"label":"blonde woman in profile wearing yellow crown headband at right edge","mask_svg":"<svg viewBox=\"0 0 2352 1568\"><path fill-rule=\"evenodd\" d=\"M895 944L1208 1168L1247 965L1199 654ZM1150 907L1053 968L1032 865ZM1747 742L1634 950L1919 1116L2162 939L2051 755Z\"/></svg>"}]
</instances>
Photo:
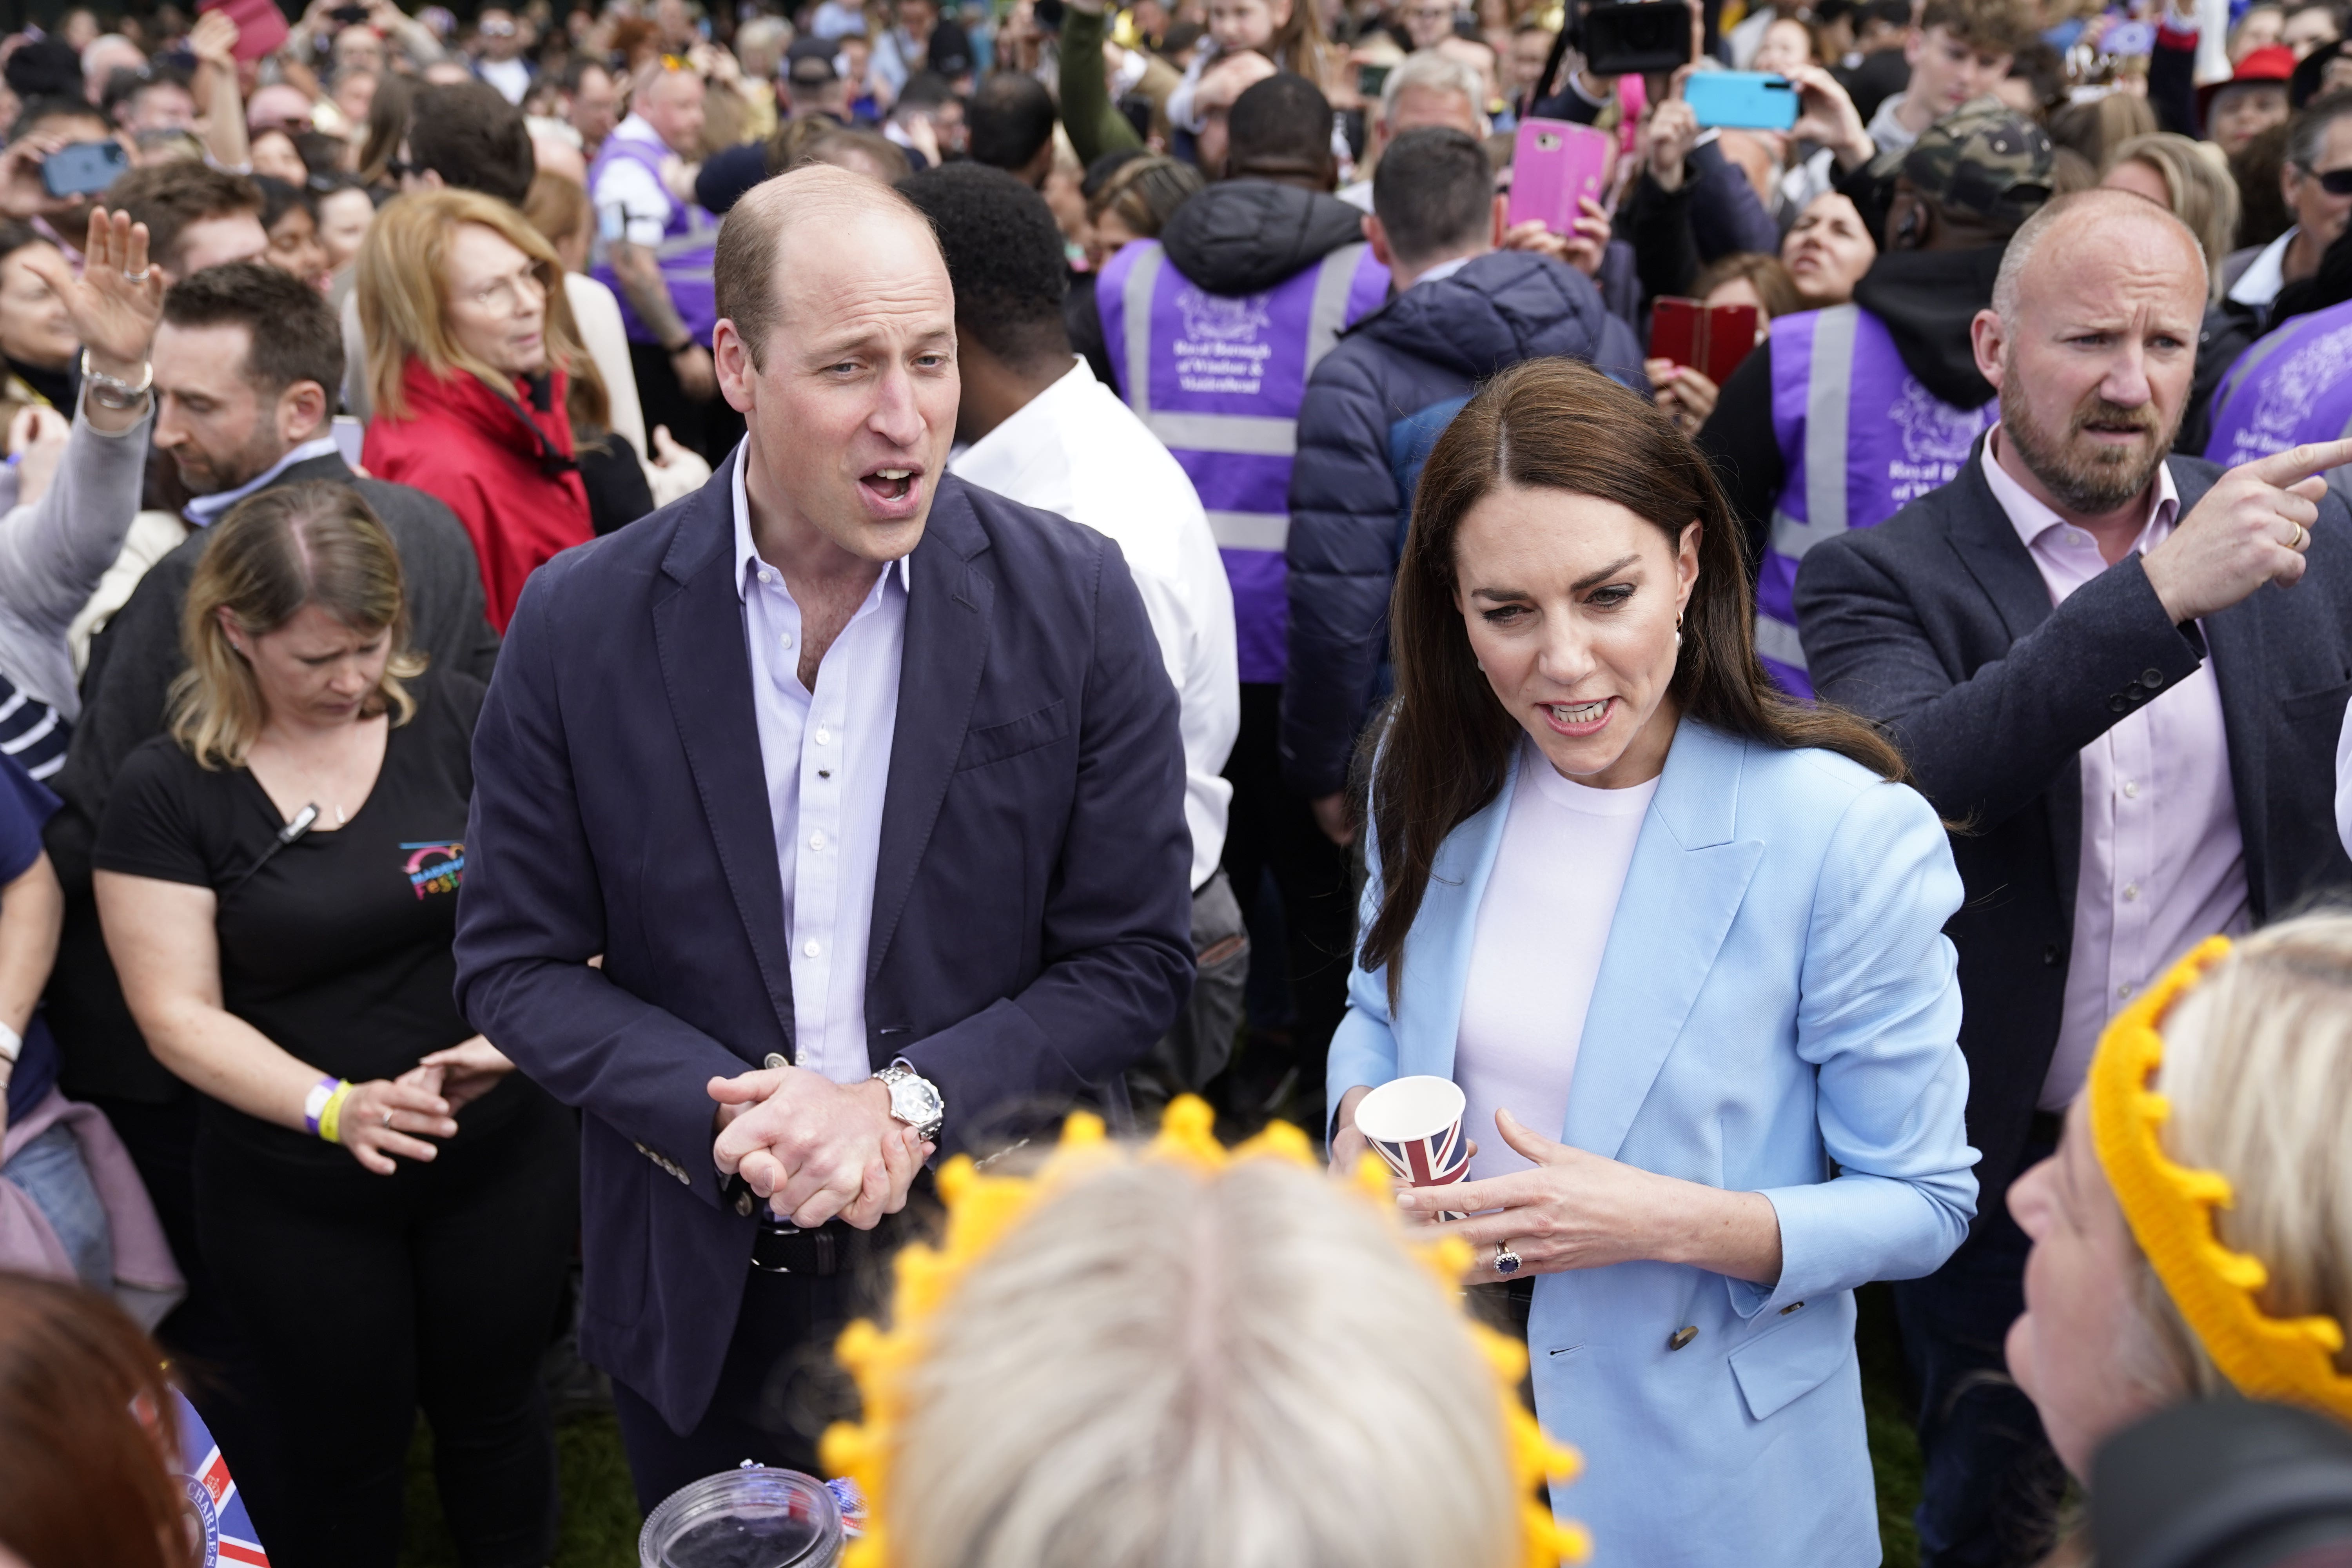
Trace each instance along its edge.
<instances>
[{"instance_id":1,"label":"blonde woman in profile wearing yellow crown headband at right edge","mask_svg":"<svg viewBox=\"0 0 2352 1568\"><path fill-rule=\"evenodd\" d=\"M2161 1121L2143 1088L2164 1095ZM2089 1476L2107 1436L2190 1399L2246 1394L2352 1425L2347 1119L2347 914L2216 938L2107 1027L2058 1154L2009 1190L2034 1244L2009 1371L2070 1472ZM2157 1157L2230 1197L2187 1201ZM2267 1279L2223 1279L2206 1241ZM2277 1328L2293 1319L2331 1319L2336 1347Z\"/></svg>"}]
</instances>

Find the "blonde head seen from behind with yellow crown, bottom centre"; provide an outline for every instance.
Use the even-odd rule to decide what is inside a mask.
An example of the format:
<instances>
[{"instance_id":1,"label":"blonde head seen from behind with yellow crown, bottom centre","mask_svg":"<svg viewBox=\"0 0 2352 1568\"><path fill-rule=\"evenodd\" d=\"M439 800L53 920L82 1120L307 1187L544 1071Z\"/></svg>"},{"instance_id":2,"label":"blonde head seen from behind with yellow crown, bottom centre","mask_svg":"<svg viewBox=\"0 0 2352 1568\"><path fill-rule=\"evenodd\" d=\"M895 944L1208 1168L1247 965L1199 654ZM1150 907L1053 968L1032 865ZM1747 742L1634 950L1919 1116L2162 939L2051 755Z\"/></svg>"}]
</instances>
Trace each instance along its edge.
<instances>
[{"instance_id":1,"label":"blonde head seen from behind with yellow crown, bottom centre","mask_svg":"<svg viewBox=\"0 0 2352 1568\"><path fill-rule=\"evenodd\" d=\"M1204 1126L1207 1107L1178 1100L1169 1126L1185 1117ZM882 1448L882 1469L851 1465L877 1493L882 1559L1531 1561L1541 1509L1512 1474L1510 1394L1395 1220L1303 1164L1169 1143L1084 1164L1065 1145L1002 1241L950 1248L948 1267L969 1265L934 1316L901 1293L894 1331L922 1347L903 1371L844 1340ZM964 1201L1002 1213L1009 1190ZM948 1234L969 1244L962 1215Z\"/></svg>"}]
</instances>

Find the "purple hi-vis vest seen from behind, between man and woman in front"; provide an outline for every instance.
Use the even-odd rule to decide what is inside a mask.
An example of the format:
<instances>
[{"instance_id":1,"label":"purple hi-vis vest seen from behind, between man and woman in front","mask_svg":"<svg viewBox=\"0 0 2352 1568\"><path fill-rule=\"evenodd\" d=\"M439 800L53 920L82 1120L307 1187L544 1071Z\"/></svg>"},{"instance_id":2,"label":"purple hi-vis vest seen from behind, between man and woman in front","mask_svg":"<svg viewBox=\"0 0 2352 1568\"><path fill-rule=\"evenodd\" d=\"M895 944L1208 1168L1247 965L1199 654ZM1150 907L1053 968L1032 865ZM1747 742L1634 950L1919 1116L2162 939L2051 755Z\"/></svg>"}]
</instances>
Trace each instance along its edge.
<instances>
[{"instance_id":1,"label":"purple hi-vis vest seen from behind, between man and woman in front","mask_svg":"<svg viewBox=\"0 0 2352 1568\"><path fill-rule=\"evenodd\" d=\"M1369 244L1343 244L1265 294L1209 294L1157 240L1127 244L1096 280L1120 390L1209 512L1244 682L1279 682L1289 599L1291 458L1308 371L1388 299Z\"/></svg>"}]
</instances>

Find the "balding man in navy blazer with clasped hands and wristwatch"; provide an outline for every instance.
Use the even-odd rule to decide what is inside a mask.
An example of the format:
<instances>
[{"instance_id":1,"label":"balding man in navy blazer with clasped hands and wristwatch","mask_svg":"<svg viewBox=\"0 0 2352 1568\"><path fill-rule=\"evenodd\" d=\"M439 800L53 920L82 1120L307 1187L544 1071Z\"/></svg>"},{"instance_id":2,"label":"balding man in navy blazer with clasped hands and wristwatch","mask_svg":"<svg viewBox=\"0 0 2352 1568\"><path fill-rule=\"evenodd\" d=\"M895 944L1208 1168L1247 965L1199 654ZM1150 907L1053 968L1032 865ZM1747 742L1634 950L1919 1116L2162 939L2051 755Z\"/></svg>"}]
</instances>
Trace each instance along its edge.
<instances>
[{"instance_id":1,"label":"balding man in navy blazer with clasped hands and wristwatch","mask_svg":"<svg viewBox=\"0 0 2352 1568\"><path fill-rule=\"evenodd\" d=\"M948 477L922 214L802 169L715 275L748 440L524 585L459 912L466 1016L586 1112L581 1349L647 1507L814 1469L804 1371L922 1157L1124 1107L1192 983L1176 693L1110 541Z\"/></svg>"}]
</instances>

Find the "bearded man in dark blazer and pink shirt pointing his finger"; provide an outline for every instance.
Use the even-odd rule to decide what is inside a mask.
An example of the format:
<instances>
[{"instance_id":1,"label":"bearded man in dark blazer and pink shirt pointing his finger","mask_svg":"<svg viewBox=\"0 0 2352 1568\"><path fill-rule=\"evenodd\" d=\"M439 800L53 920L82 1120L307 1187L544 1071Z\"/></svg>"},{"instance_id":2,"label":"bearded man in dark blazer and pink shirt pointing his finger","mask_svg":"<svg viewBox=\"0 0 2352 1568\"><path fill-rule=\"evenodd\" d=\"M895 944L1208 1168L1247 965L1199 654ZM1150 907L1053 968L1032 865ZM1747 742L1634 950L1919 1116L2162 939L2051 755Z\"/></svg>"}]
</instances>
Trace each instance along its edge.
<instances>
[{"instance_id":1,"label":"bearded man in dark blazer and pink shirt pointing his finger","mask_svg":"<svg viewBox=\"0 0 2352 1568\"><path fill-rule=\"evenodd\" d=\"M2352 442L2227 473L2166 456L2204 299L2194 235L2154 202L2046 205L1976 317L1999 425L1957 480L1797 574L1818 693L1882 724L1969 827L1947 933L1985 1197L1952 1260L1896 1286L1922 1566L2046 1547L2034 1472L2058 1472L2034 1408L1971 1373L2002 1371L2023 1309L2002 1194L2051 1152L2107 1018L2204 938L2352 882L2331 811L2352 515L2317 477Z\"/></svg>"}]
</instances>

